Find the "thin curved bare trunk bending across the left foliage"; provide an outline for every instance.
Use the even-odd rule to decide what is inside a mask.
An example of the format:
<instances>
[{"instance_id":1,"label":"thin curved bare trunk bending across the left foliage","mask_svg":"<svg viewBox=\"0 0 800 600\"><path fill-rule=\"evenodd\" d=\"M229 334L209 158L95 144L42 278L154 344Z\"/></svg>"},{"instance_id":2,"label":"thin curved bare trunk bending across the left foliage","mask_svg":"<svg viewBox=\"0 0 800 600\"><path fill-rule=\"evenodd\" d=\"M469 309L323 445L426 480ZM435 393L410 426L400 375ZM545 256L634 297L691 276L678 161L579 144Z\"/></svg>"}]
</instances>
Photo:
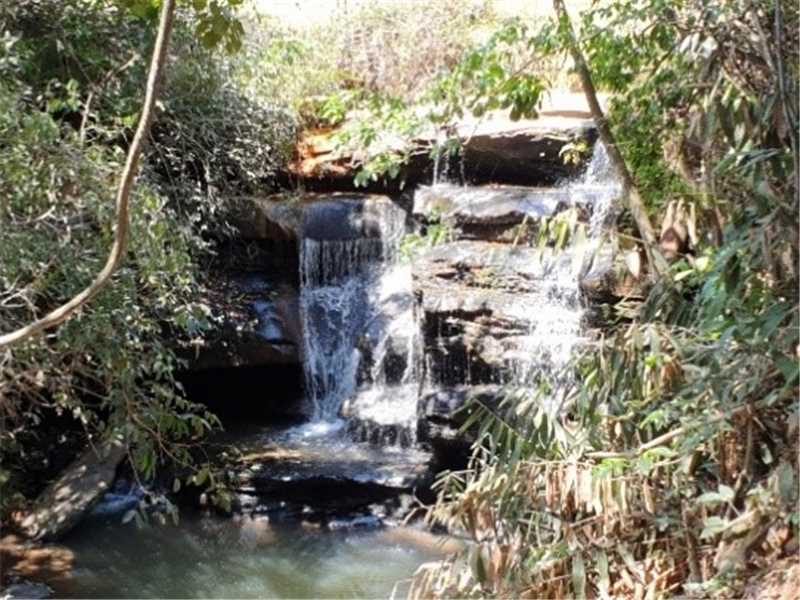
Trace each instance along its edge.
<instances>
[{"instance_id":1,"label":"thin curved bare trunk bending across the left foliage","mask_svg":"<svg viewBox=\"0 0 800 600\"><path fill-rule=\"evenodd\" d=\"M176 0L163 0L161 5L161 17L159 19L153 57L150 62L150 70L147 76L147 89L142 105L142 114L139 118L139 125L136 128L133 142L128 150L125 168L122 171L122 178L120 179L119 188L117 189L116 229L114 230L114 242L111 246L108 258L106 259L106 264L97 274L94 281L71 300L47 313L41 319L37 319L33 323L21 327L16 331L0 336L0 350L10 348L14 344L39 335L69 319L84 304L91 301L109 284L114 271L116 271L120 263L122 263L128 242L131 192L133 191L136 175L139 170L139 159L142 154L142 149L155 114L158 86L167 62L167 51L169 50L172 26L175 20L175 2Z\"/></svg>"}]
</instances>

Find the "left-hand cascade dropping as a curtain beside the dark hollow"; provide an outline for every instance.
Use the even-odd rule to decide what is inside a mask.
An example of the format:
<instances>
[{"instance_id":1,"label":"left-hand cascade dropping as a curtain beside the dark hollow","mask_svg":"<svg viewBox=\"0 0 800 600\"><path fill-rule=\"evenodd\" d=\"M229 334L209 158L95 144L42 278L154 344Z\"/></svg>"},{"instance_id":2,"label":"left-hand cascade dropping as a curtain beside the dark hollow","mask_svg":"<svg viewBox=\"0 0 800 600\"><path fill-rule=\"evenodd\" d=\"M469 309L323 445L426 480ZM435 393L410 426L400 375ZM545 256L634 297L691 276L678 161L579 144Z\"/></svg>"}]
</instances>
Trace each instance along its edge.
<instances>
[{"instance_id":1,"label":"left-hand cascade dropping as a curtain beside the dark hollow","mask_svg":"<svg viewBox=\"0 0 800 600\"><path fill-rule=\"evenodd\" d=\"M419 350L410 267L397 260L405 213L378 211L377 224L368 237L300 242L308 413L312 427L346 417L359 440L407 443Z\"/></svg>"}]
</instances>

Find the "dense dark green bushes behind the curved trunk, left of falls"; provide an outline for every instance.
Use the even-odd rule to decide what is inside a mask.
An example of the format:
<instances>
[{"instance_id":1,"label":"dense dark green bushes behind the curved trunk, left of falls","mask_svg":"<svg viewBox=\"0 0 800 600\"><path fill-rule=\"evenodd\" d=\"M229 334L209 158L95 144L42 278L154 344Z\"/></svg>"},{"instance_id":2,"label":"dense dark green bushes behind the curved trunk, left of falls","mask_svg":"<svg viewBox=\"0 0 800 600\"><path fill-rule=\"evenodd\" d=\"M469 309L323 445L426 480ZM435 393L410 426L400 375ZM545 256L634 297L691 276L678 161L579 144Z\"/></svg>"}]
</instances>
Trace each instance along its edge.
<instances>
[{"instance_id":1,"label":"dense dark green bushes behind the curved trunk, left of falls","mask_svg":"<svg viewBox=\"0 0 800 600\"><path fill-rule=\"evenodd\" d=\"M133 4L0 7L3 331L80 291L108 252L157 6ZM234 49L240 26L228 11L237 4L193 2L176 25L176 60L113 284L58 330L0 357L3 512L38 491L29 475L52 475L50 461L68 460L77 443L122 435L150 478L165 460L191 467L193 447L218 425L175 381L176 351L213 326L198 261L211 250L209 225L222 221L223 194L268 181L294 136L291 122L237 91L229 60L196 44L198 24L226 19L221 43ZM42 453L52 441L63 449Z\"/></svg>"}]
</instances>

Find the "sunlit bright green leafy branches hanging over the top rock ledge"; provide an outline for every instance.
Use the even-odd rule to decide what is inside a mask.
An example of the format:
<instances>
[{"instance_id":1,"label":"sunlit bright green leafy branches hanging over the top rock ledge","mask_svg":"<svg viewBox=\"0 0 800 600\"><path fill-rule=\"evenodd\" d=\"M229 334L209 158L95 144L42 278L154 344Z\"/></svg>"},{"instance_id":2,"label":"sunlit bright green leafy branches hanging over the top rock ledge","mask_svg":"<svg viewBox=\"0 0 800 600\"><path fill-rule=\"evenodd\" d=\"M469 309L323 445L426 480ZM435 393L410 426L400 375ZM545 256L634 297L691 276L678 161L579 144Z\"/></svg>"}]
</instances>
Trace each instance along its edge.
<instances>
[{"instance_id":1,"label":"sunlit bright green leafy branches hanging over the top rock ledge","mask_svg":"<svg viewBox=\"0 0 800 600\"><path fill-rule=\"evenodd\" d=\"M350 95L354 106L347 118L346 106L339 103L337 120L343 125L336 139L339 152L359 168L355 184L397 178L426 137L434 140L434 157L460 153L456 128L467 113L481 118L502 110L513 120L534 117L545 86L521 59L518 46L526 31L518 21L506 23L488 41L465 51L417 102L378 93Z\"/></svg>"}]
</instances>

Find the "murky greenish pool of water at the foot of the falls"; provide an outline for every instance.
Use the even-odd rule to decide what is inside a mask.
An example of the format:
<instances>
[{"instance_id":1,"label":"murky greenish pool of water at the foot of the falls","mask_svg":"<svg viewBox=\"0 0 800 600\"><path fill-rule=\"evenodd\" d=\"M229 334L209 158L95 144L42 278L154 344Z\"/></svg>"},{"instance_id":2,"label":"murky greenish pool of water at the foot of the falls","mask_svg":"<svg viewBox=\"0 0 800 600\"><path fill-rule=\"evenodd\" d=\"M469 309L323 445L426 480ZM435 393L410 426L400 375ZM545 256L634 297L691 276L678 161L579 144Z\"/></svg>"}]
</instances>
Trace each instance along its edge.
<instances>
[{"instance_id":1,"label":"murky greenish pool of water at the foot of the falls","mask_svg":"<svg viewBox=\"0 0 800 600\"><path fill-rule=\"evenodd\" d=\"M182 514L176 525L94 519L65 540L72 598L388 598L441 556L392 528L319 529ZM400 582L400 583L398 583Z\"/></svg>"}]
</instances>

